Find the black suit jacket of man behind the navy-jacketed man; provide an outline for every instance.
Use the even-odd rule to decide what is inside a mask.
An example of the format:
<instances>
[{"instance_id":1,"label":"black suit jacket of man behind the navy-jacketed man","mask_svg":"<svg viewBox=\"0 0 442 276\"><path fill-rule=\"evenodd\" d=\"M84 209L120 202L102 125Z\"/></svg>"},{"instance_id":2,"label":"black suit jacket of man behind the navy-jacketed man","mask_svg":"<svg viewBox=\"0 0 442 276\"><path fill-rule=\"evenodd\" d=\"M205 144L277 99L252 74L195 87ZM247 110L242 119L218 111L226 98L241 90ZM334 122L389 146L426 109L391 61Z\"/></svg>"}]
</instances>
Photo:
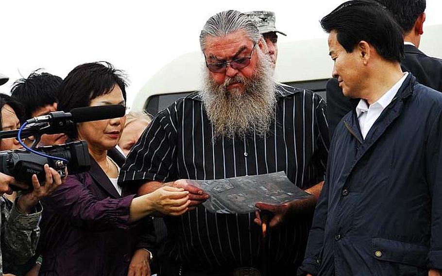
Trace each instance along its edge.
<instances>
[{"instance_id":1,"label":"black suit jacket of man behind the navy-jacketed man","mask_svg":"<svg viewBox=\"0 0 442 276\"><path fill-rule=\"evenodd\" d=\"M402 70L411 72L419 83L442 92L442 59L429 57L412 45L404 45L404 51ZM345 97L335 78L327 82L326 93L327 121L330 137L333 137L335 128L342 117L356 108L359 99Z\"/></svg>"}]
</instances>

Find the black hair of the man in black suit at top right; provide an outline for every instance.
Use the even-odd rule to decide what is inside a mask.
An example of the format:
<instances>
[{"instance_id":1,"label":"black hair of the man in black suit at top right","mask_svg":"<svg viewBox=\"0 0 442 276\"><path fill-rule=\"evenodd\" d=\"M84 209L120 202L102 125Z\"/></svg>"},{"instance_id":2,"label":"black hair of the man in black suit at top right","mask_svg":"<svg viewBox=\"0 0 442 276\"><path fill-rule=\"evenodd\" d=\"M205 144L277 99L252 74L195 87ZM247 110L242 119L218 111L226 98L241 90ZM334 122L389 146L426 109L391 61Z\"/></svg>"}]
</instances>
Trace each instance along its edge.
<instances>
[{"instance_id":1,"label":"black hair of the man in black suit at top right","mask_svg":"<svg viewBox=\"0 0 442 276\"><path fill-rule=\"evenodd\" d=\"M425 0L376 0L390 11L404 33L413 29L417 17L425 12Z\"/></svg>"}]
</instances>

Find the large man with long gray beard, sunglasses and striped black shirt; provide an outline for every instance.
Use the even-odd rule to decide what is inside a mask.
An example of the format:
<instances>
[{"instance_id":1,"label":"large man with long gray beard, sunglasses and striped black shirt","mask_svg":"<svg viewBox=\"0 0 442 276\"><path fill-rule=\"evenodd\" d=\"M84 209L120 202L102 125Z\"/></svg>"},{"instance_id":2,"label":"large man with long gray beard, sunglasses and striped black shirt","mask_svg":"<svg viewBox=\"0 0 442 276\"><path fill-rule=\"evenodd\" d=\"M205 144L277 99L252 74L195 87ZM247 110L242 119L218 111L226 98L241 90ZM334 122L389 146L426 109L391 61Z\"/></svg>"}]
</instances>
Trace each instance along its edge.
<instances>
[{"instance_id":1,"label":"large man with long gray beard, sunglasses and striped black shirt","mask_svg":"<svg viewBox=\"0 0 442 276\"><path fill-rule=\"evenodd\" d=\"M190 192L189 211L165 218L169 258L160 275L259 275L259 214L210 213L208 195L183 179L223 179L284 171L314 197L271 211L271 275L289 275L304 256L328 152L325 103L308 90L276 84L265 41L238 11L210 17L200 35L204 87L153 119L127 157L120 182L139 194L163 185ZM277 227L278 226L278 227ZM245 274L249 273L249 274Z\"/></svg>"}]
</instances>

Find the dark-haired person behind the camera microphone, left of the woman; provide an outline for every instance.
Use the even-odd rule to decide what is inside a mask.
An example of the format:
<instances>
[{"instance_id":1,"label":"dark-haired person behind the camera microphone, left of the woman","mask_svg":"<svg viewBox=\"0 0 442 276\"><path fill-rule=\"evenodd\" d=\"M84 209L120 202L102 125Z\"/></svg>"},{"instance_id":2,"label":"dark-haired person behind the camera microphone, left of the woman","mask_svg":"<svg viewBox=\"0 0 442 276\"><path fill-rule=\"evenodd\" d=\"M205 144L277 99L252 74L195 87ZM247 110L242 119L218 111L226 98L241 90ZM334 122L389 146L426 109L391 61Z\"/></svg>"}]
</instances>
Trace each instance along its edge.
<instances>
[{"instance_id":1,"label":"dark-haired person behind the camera microphone, left of the woman","mask_svg":"<svg viewBox=\"0 0 442 276\"><path fill-rule=\"evenodd\" d=\"M57 111L56 97L62 78L46 72L35 70L27 78L19 79L11 89L11 95L25 108L24 120L46 115ZM40 145L56 145L66 142L67 136L63 133L45 134L41 136Z\"/></svg>"}]
</instances>

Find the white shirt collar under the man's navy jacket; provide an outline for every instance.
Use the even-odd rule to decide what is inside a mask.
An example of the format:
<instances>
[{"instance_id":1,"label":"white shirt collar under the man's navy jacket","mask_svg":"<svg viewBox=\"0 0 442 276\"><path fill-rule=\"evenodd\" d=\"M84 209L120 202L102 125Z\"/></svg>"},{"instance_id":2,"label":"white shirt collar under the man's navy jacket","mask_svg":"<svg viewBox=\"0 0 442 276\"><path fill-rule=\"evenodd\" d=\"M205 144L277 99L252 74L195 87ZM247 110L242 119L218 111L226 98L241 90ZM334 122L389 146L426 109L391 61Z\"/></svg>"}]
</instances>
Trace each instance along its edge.
<instances>
[{"instance_id":1,"label":"white shirt collar under the man's navy jacket","mask_svg":"<svg viewBox=\"0 0 442 276\"><path fill-rule=\"evenodd\" d=\"M387 107L394 96L396 95L399 88L401 88L405 79L407 78L408 72L404 73L404 76L388 90L379 100L375 103L368 105L367 101L361 99L359 104L356 106L357 120L359 121L359 127L361 129L362 137L365 139L368 132L372 128L374 122L379 118L382 111Z\"/></svg>"}]
</instances>

